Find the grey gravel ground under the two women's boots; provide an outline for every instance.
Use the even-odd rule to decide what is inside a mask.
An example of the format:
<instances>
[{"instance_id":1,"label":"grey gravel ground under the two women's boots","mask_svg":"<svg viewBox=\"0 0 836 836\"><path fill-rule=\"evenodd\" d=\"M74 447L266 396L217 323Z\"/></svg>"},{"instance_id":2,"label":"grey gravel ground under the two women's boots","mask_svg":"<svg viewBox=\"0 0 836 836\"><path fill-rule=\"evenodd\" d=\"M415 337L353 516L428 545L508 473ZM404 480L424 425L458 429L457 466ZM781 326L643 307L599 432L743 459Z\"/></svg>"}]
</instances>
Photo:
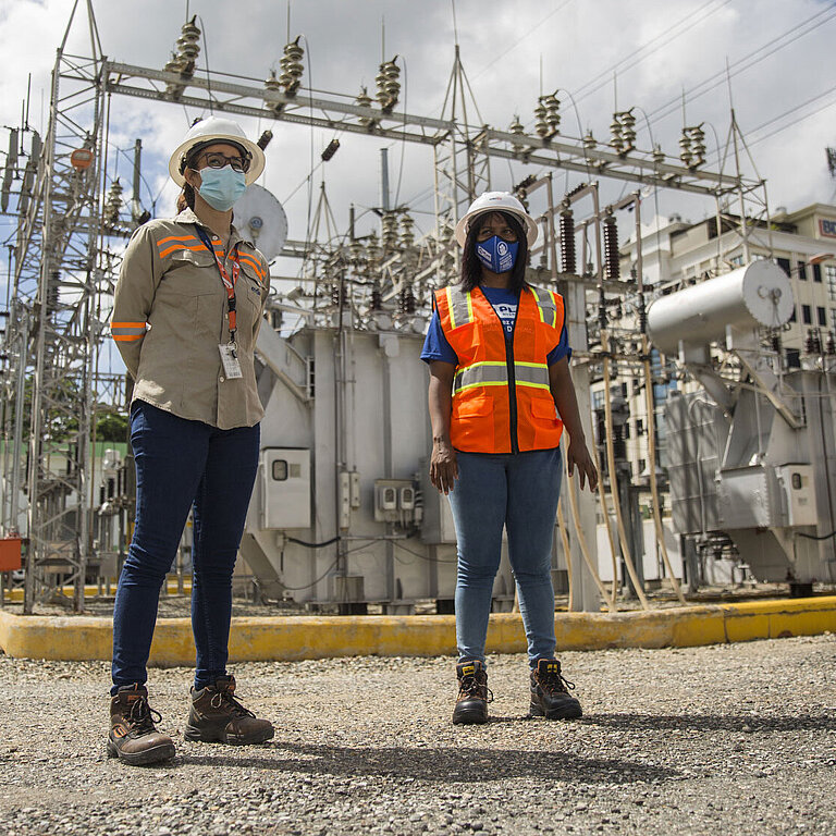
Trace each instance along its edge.
<instances>
[{"instance_id":1,"label":"grey gravel ground under the two women's boots","mask_svg":"<svg viewBox=\"0 0 836 836\"><path fill-rule=\"evenodd\" d=\"M0 833L833 834L836 637L566 653L580 721L528 720L522 656L489 660L493 722L450 723L451 659L238 665L276 724L188 743L189 672L153 669L177 757L108 760L108 666L0 654Z\"/></svg>"}]
</instances>

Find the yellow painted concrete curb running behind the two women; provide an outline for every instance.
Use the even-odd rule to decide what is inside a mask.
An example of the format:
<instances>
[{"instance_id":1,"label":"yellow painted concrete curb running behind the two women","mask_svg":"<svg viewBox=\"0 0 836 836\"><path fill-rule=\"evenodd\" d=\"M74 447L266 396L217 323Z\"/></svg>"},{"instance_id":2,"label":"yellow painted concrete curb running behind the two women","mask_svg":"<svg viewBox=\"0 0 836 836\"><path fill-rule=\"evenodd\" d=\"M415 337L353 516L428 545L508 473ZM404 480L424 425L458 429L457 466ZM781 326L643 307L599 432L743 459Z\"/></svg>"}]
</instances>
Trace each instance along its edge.
<instances>
[{"instance_id":1,"label":"yellow painted concrete curb running behind the two women","mask_svg":"<svg viewBox=\"0 0 836 836\"><path fill-rule=\"evenodd\" d=\"M558 613L558 651L688 648L727 641L836 632L836 597L687 606L616 614ZM0 611L0 648L17 659L109 660L110 618L21 616ZM232 662L293 662L332 656L435 656L455 653L452 615L274 616L233 618ZM492 615L488 652L526 650L518 614ZM151 665L190 665L188 618L157 623Z\"/></svg>"}]
</instances>

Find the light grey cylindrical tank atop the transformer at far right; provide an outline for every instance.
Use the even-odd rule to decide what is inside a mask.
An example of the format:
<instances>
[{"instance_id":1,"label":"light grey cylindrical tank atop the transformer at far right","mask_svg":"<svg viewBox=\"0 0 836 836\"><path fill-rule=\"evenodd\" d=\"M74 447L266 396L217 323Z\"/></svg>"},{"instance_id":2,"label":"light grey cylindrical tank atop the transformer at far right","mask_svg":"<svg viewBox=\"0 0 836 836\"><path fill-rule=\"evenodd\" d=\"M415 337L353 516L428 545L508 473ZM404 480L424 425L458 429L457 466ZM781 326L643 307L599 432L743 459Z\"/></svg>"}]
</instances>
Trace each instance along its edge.
<instances>
[{"instance_id":1,"label":"light grey cylindrical tank atop the transformer at far right","mask_svg":"<svg viewBox=\"0 0 836 836\"><path fill-rule=\"evenodd\" d=\"M792 316L789 276L772 261L751 265L655 299L648 308L650 339L664 354L679 343L723 340L726 327L778 328Z\"/></svg>"}]
</instances>

